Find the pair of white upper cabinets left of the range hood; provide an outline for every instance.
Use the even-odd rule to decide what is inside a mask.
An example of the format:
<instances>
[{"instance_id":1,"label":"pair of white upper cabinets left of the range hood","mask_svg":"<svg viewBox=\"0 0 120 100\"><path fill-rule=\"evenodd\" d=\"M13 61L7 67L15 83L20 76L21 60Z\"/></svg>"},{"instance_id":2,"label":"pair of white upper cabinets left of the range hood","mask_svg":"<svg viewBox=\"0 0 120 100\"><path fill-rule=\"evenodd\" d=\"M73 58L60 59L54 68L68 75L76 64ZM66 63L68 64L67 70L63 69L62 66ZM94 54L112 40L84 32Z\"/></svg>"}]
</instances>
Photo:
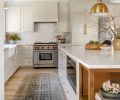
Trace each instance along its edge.
<instances>
[{"instance_id":1,"label":"pair of white upper cabinets left of the range hood","mask_svg":"<svg viewBox=\"0 0 120 100\"><path fill-rule=\"evenodd\" d=\"M33 31L32 5L9 5L6 10L6 32Z\"/></svg>"}]
</instances>

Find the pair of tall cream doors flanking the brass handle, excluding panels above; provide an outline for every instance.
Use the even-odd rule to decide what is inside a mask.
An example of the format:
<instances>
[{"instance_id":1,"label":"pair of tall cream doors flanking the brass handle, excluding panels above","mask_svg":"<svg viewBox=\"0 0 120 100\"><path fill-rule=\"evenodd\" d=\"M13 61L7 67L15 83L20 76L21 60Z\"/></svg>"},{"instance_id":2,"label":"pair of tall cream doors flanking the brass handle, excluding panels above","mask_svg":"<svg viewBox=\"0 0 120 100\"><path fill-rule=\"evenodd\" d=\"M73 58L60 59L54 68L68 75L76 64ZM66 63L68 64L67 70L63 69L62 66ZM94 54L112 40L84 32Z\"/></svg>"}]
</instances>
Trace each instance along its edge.
<instances>
[{"instance_id":1,"label":"pair of tall cream doors flanking the brass handle, excluding panels above","mask_svg":"<svg viewBox=\"0 0 120 100\"><path fill-rule=\"evenodd\" d=\"M86 22L85 22L86 17ZM84 25L87 33L84 34ZM72 17L72 43L84 45L90 40L98 39L98 18L87 12L75 12Z\"/></svg>"}]
</instances>

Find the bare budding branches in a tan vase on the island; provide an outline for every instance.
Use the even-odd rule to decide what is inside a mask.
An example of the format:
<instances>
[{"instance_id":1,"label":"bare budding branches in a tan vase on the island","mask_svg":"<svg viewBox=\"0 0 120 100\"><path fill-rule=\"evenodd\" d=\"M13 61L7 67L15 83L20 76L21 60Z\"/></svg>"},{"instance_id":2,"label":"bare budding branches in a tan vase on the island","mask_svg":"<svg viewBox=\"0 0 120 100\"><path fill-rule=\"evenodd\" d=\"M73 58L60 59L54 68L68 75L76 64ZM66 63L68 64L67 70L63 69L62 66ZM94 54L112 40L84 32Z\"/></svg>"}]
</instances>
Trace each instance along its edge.
<instances>
[{"instance_id":1,"label":"bare budding branches in a tan vase on the island","mask_svg":"<svg viewBox=\"0 0 120 100\"><path fill-rule=\"evenodd\" d=\"M118 17L107 17L106 24L103 24L101 27L102 31L107 32L113 37L114 50L120 50L120 25L116 23Z\"/></svg>"}]
</instances>

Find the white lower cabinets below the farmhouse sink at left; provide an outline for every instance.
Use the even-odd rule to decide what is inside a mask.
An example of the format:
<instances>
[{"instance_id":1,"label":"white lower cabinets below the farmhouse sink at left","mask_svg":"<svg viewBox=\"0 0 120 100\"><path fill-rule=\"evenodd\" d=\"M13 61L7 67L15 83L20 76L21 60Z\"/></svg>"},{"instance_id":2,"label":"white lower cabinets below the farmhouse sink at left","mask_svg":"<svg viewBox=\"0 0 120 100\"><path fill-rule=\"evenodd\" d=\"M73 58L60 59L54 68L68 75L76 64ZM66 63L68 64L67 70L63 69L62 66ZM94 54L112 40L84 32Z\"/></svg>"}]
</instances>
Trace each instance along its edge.
<instances>
[{"instance_id":1,"label":"white lower cabinets below the farmhouse sink at left","mask_svg":"<svg viewBox=\"0 0 120 100\"><path fill-rule=\"evenodd\" d=\"M4 82L6 82L19 68L21 63L21 47L16 47L16 53L9 57L9 49L4 50Z\"/></svg>"}]
</instances>

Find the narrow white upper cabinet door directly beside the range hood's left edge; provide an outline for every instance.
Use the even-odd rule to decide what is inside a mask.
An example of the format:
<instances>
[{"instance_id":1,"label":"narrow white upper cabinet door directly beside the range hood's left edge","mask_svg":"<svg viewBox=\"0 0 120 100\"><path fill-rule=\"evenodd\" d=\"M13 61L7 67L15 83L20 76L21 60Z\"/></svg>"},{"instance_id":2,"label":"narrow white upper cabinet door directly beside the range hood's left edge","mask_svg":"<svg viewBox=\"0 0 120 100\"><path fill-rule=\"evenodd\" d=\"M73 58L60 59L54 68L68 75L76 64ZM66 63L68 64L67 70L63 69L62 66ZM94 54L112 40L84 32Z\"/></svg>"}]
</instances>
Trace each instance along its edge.
<instances>
[{"instance_id":1,"label":"narrow white upper cabinet door directly beside the range hood's left edge","mask_svg":"<svg viewBox=\"0 0 120 100\"><path fill-rule=\"evenodd\" d=\"M21 6L21 31L33 31L32 6Z\"/></svg>"}]
</instances>

